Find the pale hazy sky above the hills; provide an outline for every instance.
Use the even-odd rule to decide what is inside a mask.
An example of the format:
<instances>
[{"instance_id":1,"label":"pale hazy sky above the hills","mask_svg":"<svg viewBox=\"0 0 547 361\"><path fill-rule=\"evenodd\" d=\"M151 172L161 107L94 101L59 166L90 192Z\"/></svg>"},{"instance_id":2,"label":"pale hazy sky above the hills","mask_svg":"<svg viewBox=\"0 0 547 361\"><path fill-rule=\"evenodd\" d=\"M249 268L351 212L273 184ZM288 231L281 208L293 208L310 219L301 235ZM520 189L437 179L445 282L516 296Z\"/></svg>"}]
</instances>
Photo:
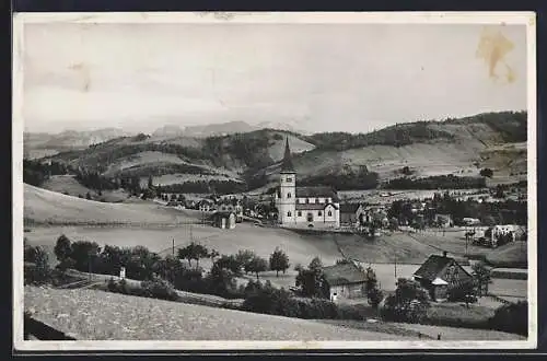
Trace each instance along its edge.
<instances>
[{"instance_id":1,"label":"pale hazy sky above the hills","mask_svg":"<svg viewBox=\"0 0 547 361\"><path fill-rule=\"evenodd\" d=\"M274 121L311 132L526 108L526 28L25 24L25 130Z\"/></svg>"}]
</instances>

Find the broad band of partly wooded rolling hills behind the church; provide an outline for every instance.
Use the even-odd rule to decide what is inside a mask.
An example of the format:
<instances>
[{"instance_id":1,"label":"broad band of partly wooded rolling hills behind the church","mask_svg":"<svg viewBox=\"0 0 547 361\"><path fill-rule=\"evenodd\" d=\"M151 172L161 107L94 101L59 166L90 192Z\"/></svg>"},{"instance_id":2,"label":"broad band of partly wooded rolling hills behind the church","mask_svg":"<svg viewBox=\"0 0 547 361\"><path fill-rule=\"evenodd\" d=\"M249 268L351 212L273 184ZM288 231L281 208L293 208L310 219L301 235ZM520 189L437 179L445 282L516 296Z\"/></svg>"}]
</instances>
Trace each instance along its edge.
<instances>
[{"instance_id":1,"label":"broad band of partly wooded rolling hills behind the church","mask_svg":"<svg viewBox=\"0 0 547 361\"><path fill-rule=\"evenodd\" d=\"M223 129L233 133L203 136ZM119 137L45 159L100 171L108 177L137 175L146 179L152 175L155 184L163 185L225 179L246 183L249 190L267 189L277 182L288 138L302 182L317 183L322 182L316 179L318 175L328 175L357 180L366 188L371 185L361 182L361 176L377 174L382 184L403 176L404 167L409 168L412 177L478 177L480 168L490 167L491 184L526 177L524 112L399 124L359 135L305 136L289 130L252 129L240 123L196 129L164 127L152 136Z\"/></svg>"}]
</instances>

